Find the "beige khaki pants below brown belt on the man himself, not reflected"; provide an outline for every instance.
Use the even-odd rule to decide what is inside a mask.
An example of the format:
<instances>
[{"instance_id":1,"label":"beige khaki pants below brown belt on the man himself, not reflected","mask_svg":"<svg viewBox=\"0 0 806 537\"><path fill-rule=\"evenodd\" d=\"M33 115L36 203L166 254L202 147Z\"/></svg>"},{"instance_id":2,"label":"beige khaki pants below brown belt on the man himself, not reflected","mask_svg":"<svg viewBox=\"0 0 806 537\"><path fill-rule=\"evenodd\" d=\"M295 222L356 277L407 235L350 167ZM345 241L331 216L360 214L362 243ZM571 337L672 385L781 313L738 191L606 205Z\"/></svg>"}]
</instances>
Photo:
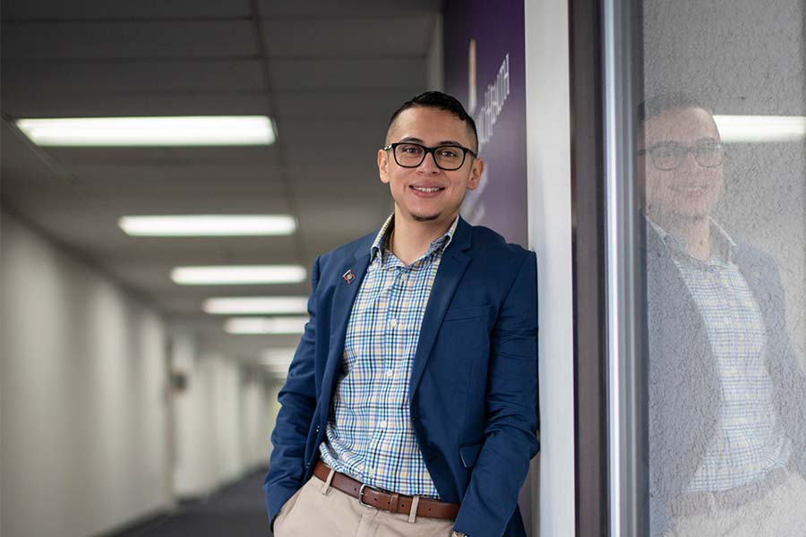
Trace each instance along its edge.
<instances>
[{"instance_id":1,"label":"beige khaki pants below brown belt on the man himself, not reflected","mask_svg":"<svg viewBox=\"0 0 806 537\"><path fill-rule=\"evenodd\" d=\"M364 507L315 476L280 509L275 537L450 537L453 521Z\"/></svg>"}]
</instances>

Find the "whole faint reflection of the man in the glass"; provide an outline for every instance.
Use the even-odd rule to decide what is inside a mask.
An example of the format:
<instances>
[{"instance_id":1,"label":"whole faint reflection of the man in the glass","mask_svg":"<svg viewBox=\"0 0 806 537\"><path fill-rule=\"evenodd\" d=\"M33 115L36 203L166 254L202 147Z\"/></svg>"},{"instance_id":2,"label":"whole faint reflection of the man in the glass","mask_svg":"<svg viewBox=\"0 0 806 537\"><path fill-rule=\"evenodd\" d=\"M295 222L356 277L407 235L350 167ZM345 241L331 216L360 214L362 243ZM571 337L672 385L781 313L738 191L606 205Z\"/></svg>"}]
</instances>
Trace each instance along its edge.
<instances>
[{"instance_id":1,"label":"whole faint reflection of the man in the glass","mask_svg":"<svg viewBox=\"0 0 806 537\"><path fill-rule=\"evenodd\" d=\"M711 113L642 107L653 535L806 535L806 381L774 261L713 211L725 180Z\"/></svg>"}]
</instances>

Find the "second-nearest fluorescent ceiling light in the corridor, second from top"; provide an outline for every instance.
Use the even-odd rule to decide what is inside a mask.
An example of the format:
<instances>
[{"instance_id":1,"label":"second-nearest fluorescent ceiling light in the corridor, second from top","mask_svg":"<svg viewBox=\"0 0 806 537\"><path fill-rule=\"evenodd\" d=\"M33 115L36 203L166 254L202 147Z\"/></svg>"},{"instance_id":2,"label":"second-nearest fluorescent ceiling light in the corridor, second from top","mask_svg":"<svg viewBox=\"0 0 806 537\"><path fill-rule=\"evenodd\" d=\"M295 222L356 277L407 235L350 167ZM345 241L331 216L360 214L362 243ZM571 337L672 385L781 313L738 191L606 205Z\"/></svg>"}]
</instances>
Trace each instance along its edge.
<instances>
[{"instance_id":1,"label":"second-nearest fluorescent ceiling light in the corridor, second from top","mask_svg":"<svg viewBox=\"0 0 806 537\"><path fill-rule=\"evenodd\" d=\"M293 234L296 218L288 215L185 215L121 217L126 234L148 237L219 237Z\"/></svg>"}]
</instances>

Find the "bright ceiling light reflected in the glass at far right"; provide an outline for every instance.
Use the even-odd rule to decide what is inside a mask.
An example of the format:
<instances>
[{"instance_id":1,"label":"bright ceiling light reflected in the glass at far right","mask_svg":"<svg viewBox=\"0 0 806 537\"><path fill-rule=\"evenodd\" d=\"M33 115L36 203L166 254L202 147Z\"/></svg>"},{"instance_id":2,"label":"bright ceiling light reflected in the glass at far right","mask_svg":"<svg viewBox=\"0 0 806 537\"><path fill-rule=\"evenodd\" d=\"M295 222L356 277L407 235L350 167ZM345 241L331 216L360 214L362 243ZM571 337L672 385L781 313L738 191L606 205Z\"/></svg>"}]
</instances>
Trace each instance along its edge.
<instances>
[{"instance_id":1,"label":"bright ceiling light reflected in the glass at far right","mask_svg":"<svg viewBox=\"0 0 806 537\"><path fill-rule=\"evenodd\" d=\"M715 115L725 143L806 141L806 117L796 115Z\"/></svg>"}]
</instances>

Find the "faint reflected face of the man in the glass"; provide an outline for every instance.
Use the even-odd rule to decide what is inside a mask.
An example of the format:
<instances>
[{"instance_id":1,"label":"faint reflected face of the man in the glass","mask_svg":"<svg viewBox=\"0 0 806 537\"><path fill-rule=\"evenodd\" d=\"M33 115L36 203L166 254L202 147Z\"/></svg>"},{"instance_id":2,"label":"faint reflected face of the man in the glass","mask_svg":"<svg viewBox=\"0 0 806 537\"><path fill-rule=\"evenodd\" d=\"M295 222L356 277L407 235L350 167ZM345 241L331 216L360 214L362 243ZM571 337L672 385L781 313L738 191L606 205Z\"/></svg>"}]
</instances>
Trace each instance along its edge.
<instances>
[{"instance_id":1,"label":"faint reflected face of the man in the glass","mask_svg":"<svg viewBox=\"0 0 806 537\"><path fill-rule=\"evenodd\" d=\"M718 147L719 143L719 132L710 113L702 108L665 112L650 117L644 131L643 149L647 149L647 154L640 158L639 174L644 174L647 216L658 222L672 219L679 223L710 216L724 185L721 158L717 166L709 161L714 154L708 149ZM672 155L680 146L699 148L700 155L695 158L690 151L680 166L665 170L658 169L649 154L653 148L658 148L656 156L673 162L674 158L664 155ZM668 166L670 162L661 163L661 167Z\"/></svg>"}]
</instances>

